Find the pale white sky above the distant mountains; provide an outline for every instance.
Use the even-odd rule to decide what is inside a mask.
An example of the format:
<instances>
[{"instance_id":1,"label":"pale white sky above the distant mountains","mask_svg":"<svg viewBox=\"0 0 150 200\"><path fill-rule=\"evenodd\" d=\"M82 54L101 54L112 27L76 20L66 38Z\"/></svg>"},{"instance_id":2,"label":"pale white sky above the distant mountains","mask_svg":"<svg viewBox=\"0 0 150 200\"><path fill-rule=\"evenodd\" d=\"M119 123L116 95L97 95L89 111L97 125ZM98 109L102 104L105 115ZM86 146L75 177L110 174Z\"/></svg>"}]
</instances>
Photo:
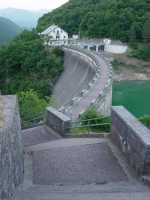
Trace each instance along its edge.
<instances>
[{"instance_id":1,"label":"pale white sky above the distant mountains","mask_svg":"<svg viewBox=\"0 0 150 200\"><path fill-rule=\"evenodd\" d=\"M54 9L69 0L0 0L0 9L12 7L24 10Z\"/></svg>"}]
</instances>

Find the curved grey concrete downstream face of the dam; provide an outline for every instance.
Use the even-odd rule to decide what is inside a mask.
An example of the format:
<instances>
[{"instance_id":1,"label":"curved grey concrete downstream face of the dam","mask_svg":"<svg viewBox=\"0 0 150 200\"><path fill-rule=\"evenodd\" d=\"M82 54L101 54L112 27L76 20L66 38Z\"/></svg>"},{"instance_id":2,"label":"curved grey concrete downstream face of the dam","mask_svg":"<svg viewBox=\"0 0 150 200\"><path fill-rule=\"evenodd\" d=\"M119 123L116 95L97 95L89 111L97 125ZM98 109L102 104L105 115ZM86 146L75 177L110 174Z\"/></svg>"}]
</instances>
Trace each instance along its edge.
<instances>
[{"instance_id":1,"label":"curved grey concrete downstream face of the dam","mask_svg":"<svg viewBox=\"0 0 150 200\"><path fill-rule=\"evenodd\" d=\"M53 90L57 108L80 92L96 72L94 63L88 56L71 49L64 49L64 52L64 71Z\"/></svg>"}]
</instances>

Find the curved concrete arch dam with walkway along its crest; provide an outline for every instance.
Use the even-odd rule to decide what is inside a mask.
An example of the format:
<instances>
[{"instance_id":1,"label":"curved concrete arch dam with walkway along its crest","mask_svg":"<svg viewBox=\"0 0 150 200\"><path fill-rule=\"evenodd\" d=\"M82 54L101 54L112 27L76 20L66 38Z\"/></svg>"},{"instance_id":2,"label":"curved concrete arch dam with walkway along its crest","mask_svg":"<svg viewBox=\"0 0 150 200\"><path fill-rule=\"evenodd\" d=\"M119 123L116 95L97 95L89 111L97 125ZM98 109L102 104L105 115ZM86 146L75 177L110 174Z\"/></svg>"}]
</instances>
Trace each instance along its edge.
<instances>
[{"instance_id":1,"label":"curved concrete arch dam with walkway along its crest","mask_svg":"<svg viewBox=\"0 0 150 200\"><path fill-rule=\"evenodd\" d=\"M112 67L100 55L77 47L63 47L64 72L53 95L58 110L75 121L87 108L110 115Z\"/></svg>"}]
</instances>

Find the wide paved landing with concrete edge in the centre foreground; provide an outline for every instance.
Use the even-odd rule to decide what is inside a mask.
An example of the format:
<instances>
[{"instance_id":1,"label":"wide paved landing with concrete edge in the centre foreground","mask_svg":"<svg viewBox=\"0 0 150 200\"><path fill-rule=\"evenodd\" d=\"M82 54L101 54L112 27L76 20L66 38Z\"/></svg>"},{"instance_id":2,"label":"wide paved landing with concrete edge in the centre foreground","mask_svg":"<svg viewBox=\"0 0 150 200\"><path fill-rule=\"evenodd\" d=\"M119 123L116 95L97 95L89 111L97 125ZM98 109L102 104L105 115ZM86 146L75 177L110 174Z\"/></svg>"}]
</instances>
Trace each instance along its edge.
<instances>
[{"instance_id":1,"label":"wide paved landing with concrete edge in the centre foreground","mask_svg":"<svg viewBox=\"0 0 150 200\"><path fill-rule=\"evenodd\" d=\"M34 184L101 184L127 181L108 138L61 139L26 147L27 172ZM117 173L116 173L117 172Z\"/></svg>"}]
</instances>

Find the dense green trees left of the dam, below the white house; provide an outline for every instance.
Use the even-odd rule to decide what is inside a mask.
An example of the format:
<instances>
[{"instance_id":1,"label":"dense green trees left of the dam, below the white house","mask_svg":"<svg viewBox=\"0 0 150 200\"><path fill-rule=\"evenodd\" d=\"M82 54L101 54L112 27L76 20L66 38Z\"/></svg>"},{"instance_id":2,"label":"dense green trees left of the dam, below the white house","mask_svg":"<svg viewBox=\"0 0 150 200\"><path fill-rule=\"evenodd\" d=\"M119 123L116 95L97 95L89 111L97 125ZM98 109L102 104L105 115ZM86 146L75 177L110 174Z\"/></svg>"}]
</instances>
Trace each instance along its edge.
<instances>
[{"instance_id":1,"label":"dense green trees left of the dam, below the white house","mask_svg":"<svg viewBox=\"0 0 150 200\"><path fill-rule=\"evenodd\" d=\"M63 71L63 51L45 50L35 31L24 30L8 45L0 48L0 90L16 94L33 89L39 98L51 90Z\"/></svg>"}]
</instances>

